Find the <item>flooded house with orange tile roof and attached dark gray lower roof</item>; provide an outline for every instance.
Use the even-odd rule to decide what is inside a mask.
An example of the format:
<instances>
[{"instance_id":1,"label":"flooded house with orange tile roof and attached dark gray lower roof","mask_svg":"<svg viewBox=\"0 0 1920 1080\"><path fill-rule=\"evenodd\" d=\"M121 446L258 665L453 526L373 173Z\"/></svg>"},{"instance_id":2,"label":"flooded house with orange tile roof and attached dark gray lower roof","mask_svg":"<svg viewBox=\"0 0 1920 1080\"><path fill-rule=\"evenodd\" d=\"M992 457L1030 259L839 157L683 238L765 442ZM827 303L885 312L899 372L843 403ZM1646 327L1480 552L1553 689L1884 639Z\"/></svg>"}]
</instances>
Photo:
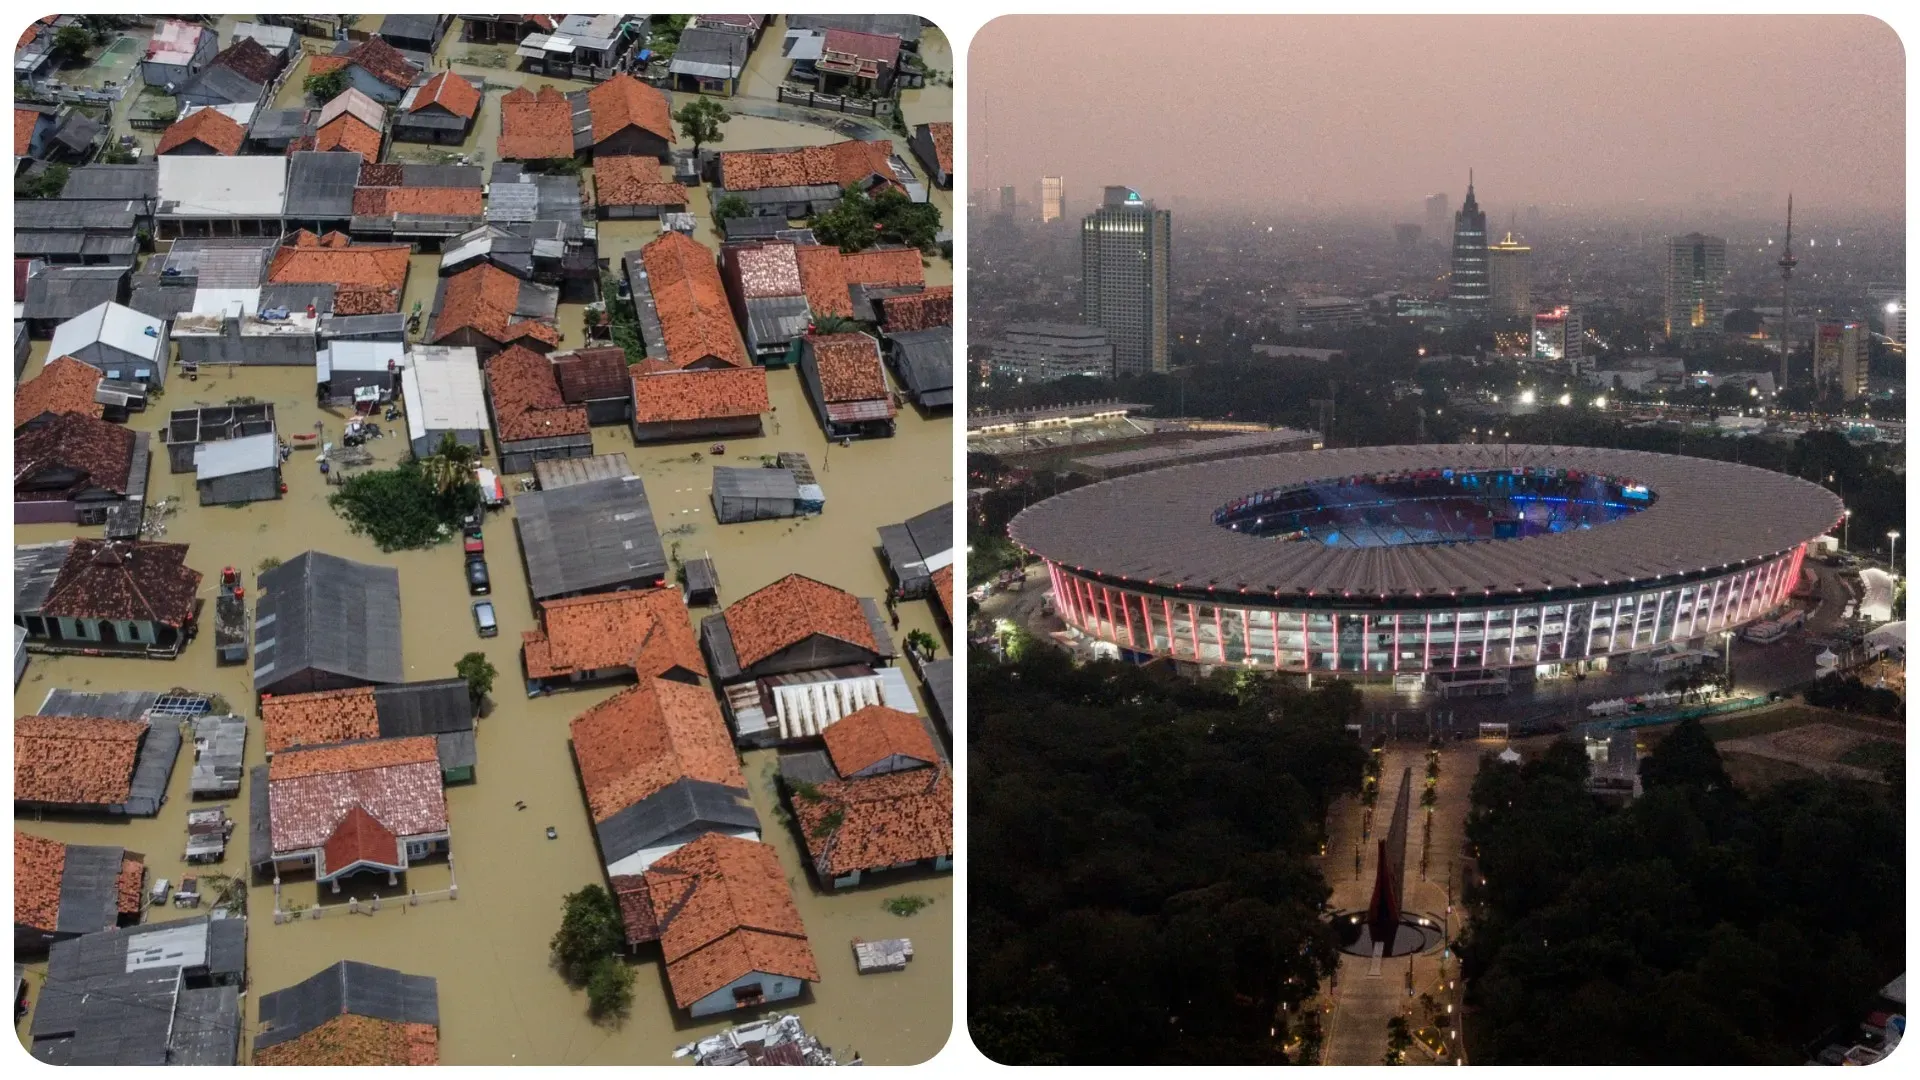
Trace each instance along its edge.
<instances>
[{"instance_id":1,"label":"flooded house with orange tile roof and attached dark gray lower roof","mask_svg":"<svg viewBox=\"0 0 1920 1080\"><path fill-rule=\"evenodd\" d=\"M639 874L708 832L760 838L712 694L643 678L568 726L609 876Z\"/></svg>"}]
</instances>

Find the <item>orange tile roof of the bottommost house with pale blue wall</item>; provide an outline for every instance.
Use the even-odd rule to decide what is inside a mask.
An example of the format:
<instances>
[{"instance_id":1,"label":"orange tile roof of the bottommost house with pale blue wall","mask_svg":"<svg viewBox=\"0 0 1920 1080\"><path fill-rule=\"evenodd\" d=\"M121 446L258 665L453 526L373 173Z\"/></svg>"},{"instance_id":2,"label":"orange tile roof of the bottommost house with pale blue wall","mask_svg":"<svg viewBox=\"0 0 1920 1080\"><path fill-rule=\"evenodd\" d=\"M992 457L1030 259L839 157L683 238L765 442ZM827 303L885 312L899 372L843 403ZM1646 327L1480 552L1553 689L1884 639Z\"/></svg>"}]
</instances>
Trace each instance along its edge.
<instances>
[{"instance_id":1,"label":"orange tile roof of the bottommost house with pale blue wall","mask_svg":"<svg viewBox=\"0 0 1920 1080\"><path fill-rule=\"evenodd\" d=\"M682 1009L756 970L820 982L801 911L766 844L708 832L641 876Z\"/></svg>"}]
</instances>

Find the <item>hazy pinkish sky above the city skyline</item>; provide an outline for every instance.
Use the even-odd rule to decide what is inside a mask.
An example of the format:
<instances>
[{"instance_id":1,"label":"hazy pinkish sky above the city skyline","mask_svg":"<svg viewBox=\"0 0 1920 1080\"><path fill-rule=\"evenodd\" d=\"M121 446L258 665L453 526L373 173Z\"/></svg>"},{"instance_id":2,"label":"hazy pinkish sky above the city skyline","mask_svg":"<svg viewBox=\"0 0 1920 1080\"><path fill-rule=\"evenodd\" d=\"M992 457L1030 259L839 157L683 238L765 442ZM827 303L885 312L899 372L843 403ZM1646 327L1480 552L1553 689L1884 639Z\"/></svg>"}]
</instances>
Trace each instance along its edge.
<instances>
[{"instance_id":1,"label":"hazy pinkish sky above the city skyline","mask_svg":"<svg viewBox=\"0 0 1920 1080\"><path fill-rule=\"evenodd\" d=\"M1471 167L1505 208L1901 213L1905 65L1859 15L1014 15L968 52L970 184L1415 221Z\"/></svg>"}]
</instances>

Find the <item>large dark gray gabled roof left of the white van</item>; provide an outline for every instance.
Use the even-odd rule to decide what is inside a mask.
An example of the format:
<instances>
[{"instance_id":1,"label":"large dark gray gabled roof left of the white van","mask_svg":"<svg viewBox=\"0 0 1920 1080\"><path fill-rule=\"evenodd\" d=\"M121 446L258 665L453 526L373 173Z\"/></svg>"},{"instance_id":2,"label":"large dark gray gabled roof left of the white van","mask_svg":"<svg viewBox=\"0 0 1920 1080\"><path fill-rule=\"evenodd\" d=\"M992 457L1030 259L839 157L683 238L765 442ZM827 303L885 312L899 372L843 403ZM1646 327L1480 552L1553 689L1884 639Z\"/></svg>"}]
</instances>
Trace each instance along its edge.
<instances>
[{"instance_id":1,"label":"large dark gray gabled roof left of the white van","mask_svg":"<svg viewBox=\"0 0 1920 1080\"><path fill-rule=\"evenodd\" d=\"M259 577L253 690L305 669L403 682L399 571L303 552Z\"/></svg>"}]
</instances>

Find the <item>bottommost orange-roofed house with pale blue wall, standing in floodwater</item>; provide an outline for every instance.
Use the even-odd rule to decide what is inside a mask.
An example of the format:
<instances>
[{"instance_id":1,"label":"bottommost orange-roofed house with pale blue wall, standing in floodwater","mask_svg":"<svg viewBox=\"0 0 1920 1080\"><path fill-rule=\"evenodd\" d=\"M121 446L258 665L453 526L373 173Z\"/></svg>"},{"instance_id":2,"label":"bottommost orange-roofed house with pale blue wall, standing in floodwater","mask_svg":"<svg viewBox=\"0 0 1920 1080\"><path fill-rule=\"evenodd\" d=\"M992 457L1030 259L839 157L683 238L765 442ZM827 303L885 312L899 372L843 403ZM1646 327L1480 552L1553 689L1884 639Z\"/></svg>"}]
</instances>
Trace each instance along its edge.
<instances>
[{"instance_id":1,"label":"bottommost orange-roofed house with pale blue wall, standing in floodwater","mask_svg":"<svg viewBox=\"0 0 1920 1080\"><path fill-rule=\"evenodd\" d=\"M708 832L612 880L626 940L660 942L674 1005L693 1017L760 1009L820 982L780 855Z\"/></svg>"}]
</instances>

